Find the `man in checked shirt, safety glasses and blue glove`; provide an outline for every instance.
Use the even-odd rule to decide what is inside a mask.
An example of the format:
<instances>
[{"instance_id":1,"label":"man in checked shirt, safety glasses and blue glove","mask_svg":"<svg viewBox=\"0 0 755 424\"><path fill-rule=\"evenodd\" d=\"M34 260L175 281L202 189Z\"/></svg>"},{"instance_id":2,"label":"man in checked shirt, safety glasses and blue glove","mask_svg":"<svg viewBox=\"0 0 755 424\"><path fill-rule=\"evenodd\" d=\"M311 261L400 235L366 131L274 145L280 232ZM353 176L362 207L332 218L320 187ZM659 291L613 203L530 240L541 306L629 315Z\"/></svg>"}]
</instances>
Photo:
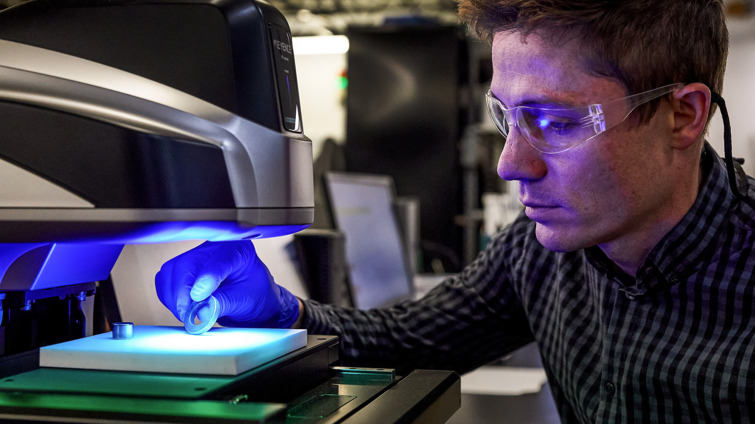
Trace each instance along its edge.
<instances>
[{"instance_id":1,"label":"man in checked shirt, safety glasses and blue glove","mask_svg":"<svg viewBox=\"0 0 755 424\"><path fill-rule=\"evenodd\" d=\"M519 181L525 214L461 275L389 309L297 300L248 242L166 263L160 299L183 318L214 293L220 324L337 334L347 361L384 366L462 373L535 340L564 422L748 422L755 192L704 142L722 9L464 0L492 40L498 174Z\"/></svg>"}]
</instances>

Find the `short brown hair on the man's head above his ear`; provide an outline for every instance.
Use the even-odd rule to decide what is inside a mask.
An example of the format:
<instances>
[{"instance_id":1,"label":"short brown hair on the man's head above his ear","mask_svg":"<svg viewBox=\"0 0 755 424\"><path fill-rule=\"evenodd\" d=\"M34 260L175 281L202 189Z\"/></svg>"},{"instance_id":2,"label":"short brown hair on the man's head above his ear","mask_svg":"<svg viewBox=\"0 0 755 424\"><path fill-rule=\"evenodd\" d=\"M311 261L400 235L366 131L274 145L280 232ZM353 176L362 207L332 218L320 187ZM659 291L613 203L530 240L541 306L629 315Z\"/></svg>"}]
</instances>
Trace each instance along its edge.
<instances>
[{"instance_id":1,"label":"short brown hair on the man's head above his ear","mask_svg":"<svg viewBox=\"0 0 755 424\"><path fill-rule=\"evenodd\" d=\"M627 94L667 84L723 88L729 31L723 0L458 0L458 14L492 41L497 32L532 32L551 42L577 41L593 75L616 78ZM637 109L646 122L660 100ZM713 115L711 105L710 117Z\"/></svg>"}]
</instances>

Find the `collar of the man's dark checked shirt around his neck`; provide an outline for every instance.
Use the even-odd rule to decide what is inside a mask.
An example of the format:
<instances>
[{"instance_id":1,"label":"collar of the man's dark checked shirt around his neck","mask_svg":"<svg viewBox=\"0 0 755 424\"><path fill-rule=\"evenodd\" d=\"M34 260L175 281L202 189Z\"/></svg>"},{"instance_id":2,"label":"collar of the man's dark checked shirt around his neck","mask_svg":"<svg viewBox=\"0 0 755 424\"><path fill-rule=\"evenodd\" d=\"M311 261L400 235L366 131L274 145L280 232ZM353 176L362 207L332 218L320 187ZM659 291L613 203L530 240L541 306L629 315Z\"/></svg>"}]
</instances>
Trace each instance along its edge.
<instances>
[{"instance_id":1,"label":"collar of the man's dark checked shirt around his neck","mask_svg":"<svg viewBox=\"0 0 755 424\"><path fill-rule=\"evenodd\" d=\"M621 271L599 247L584 250L587 260L627 294L639 296L649 289L673 286L702 266L729 223L735 197L729 189L726 165L707 142L701 155L704 180L695 203L676 226L661 238L637 270L636 278Z\"/></svg>"}]
</instances>

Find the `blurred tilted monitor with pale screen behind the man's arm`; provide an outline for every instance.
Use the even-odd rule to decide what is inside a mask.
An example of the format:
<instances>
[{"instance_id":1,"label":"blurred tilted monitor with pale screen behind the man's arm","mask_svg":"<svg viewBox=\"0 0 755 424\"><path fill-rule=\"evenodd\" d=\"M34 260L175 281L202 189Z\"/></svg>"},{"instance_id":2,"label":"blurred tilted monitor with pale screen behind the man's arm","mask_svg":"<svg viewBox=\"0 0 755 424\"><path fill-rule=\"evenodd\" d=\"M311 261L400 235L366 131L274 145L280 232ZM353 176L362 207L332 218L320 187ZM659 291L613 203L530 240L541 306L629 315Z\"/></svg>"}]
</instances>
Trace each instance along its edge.
<instances>
[{"instance_id":1,"label":"blurred tilted monitor with pale screen behind the man's arm","mask_svg":"<svg viewBox=\"0 0 755 424\"><path fill-rule=\"evenodd\" d=\"M383 175L325 174L334 222L346 236L355 306L390 306L411 296L402 236L393 212L393 180Z\"/></svg>"}]
</instances>

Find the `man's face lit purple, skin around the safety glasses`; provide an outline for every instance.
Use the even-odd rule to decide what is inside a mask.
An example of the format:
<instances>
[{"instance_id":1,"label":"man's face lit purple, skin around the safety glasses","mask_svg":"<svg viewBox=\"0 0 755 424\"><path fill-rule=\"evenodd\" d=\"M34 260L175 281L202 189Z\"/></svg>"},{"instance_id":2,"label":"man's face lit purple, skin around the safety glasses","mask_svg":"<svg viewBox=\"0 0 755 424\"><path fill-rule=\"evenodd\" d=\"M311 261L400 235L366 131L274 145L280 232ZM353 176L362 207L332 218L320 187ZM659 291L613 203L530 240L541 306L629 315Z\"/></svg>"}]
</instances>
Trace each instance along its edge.
<instances>
[{"instance_id":1,"label":"man's face lit purple, skin around the safety glasses","mask_svg":"<svg viewBox=\"0 0 755 424\"><path fill-rule=\"evenodd\" d=\"M492 91L507 107L522 103L587 106L628 94L623 84L588 75L569 44L536 35L501 34L493 41ZM557 107L557 106L550 106ZM649 124L622 124L566 152L538 152L511 128L498 175L519 180L519 200L535 220L538 241L571 251L609 243L657 222L673 191L673 112L661 108Z\"/></svg>"}]
</instances>

